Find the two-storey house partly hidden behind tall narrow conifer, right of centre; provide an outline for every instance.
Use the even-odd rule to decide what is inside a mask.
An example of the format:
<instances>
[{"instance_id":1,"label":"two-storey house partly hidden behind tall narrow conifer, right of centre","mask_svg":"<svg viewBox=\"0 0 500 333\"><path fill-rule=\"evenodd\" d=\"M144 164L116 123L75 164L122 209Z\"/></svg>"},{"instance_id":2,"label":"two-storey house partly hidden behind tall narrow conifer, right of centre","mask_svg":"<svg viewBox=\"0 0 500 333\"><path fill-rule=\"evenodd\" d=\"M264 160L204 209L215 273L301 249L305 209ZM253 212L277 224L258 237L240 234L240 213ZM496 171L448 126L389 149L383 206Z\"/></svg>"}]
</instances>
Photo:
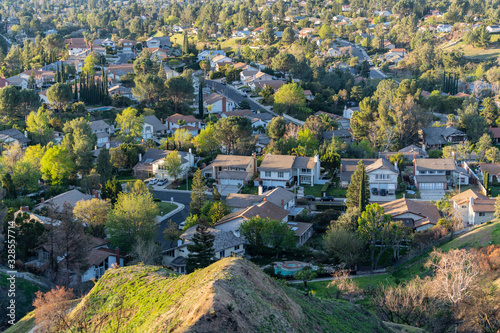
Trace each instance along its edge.
<instances>
[{"instance_id":1,"label":"two-storey house partly hidden behind tall narrow conifer, right of centre","mask_svg":"<svg viewBox=\"0 0 500 333\"><path fill-rule=\"evenodd\" d=\"M348 187L351 183L351 176L356 171L360 159L343 158L340 161L340 186ZM394 194L398 187L397 168L388 159L362 159L365 164L365 171L368 175L370 190L386 190L389 194Z\"/></svg>"}]
</instances>

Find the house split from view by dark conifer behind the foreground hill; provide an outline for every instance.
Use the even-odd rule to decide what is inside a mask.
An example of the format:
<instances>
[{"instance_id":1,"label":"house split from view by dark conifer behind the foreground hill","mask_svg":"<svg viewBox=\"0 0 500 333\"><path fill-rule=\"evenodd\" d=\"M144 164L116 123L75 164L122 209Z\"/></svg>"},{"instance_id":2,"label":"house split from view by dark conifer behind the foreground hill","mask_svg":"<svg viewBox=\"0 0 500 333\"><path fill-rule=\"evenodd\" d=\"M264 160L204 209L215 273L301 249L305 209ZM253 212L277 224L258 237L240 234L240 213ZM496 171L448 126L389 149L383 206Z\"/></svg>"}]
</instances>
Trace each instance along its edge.
<instances>
[{"instance_id":1,"label":"house split from view by dark conifer behind the foreground hill","mask_svg":"<svg viewBox=\"0 0 500 333\"><path fill-rule=\"evenodd\" d=\"M245 254L245 240L235 236L231 231L223 231L214 228L208 228L208 232L214 236L213 259L219 260L232 255L243 256ZM196 226L187 229L175 247L163 251L163 265L172 268L180 274L186 273L186 259L189 255L187 246L192 243L193 236L196 234Z\"/></svg>"}]
</instances>

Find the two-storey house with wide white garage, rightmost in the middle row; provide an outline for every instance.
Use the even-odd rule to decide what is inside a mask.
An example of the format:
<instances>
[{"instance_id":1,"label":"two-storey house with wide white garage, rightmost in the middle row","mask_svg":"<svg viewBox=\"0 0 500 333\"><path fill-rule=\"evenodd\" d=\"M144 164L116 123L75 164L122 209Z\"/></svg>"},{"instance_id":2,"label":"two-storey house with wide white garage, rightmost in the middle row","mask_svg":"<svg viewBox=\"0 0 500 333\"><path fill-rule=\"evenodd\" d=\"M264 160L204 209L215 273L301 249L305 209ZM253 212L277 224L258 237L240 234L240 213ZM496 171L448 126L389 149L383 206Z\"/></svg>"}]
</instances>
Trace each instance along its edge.
<instances>
[{"instance_id":1,"label":"two-storey house with wide white garage, rightmost in the middle row","mask_svg":"<svg viewBox=\"0 0 500 333\"><path fill-rule=\"evenodd\" d=\"M446 190L457 165L451 158L425 158L415 159L413 169L418 190Z\"/></svg>"}]
</instances>

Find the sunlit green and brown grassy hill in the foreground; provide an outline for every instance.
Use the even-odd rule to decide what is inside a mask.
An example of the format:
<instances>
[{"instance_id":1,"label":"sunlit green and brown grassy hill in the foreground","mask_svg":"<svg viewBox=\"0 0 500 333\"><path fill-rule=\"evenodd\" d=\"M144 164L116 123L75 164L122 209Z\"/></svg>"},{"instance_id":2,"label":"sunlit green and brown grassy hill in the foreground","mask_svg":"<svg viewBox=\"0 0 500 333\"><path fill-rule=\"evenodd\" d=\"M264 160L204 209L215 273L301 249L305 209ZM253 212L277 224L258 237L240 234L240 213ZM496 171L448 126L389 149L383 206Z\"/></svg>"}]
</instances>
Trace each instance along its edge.
<instances>
[{"instance_id":1,"label":"sunlit green and brown grassy hill in the foreground","mask_svg":"<svg viewBox=\"0 0 500 333\"><path fill-rule=\"evenodd\" d=\"M151 266L109 270L70 318L123 332L389 331L356 305L304 295L241 258L185 276Z\"/></svg>"}]
</instances>

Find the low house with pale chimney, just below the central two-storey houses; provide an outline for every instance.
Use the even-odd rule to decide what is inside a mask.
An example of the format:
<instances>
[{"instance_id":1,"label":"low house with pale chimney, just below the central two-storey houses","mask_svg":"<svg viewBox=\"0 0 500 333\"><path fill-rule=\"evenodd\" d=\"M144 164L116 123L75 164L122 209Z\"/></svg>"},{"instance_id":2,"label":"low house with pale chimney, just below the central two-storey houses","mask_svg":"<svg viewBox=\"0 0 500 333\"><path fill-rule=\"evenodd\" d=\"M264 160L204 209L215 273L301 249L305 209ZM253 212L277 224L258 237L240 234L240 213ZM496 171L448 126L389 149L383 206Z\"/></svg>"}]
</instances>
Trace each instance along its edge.
<instances>
[{"instance_id":1,"label":"low house with pale chimney, just below the central two-storey houses","mask_svg":"<svg viewBox=\"0 0 500 333\"><path fill-rule=\"evenodd\" d=\"M233 211L257 205L264 201L272 202L286 210L292 210L295 207L296 200L296 194L281 187L263 192L262 186L259 186L259 194L229 193L225 203L231 207Z\"/></svg>"}]
</instances>

